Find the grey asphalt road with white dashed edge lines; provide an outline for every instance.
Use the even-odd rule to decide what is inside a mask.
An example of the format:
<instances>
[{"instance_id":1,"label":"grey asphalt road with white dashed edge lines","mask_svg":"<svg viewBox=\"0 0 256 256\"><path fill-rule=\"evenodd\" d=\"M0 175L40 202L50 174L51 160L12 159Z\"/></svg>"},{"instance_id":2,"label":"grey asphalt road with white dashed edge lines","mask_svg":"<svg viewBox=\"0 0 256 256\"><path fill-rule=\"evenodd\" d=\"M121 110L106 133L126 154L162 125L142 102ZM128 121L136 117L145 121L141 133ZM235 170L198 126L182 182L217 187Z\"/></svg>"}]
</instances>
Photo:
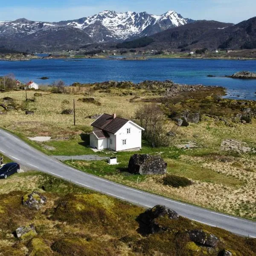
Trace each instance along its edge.
<instances>
[{"instance_id":1,"label":"grey asphalt road with white dashed edge lines","mask_svg":"<svg viewBox=\"0 0 256 256\"><path fill-rule=\"evenodd\" d=\"M175 210L181 216L191 220L213 227L220 227L242 236L256 238L256 222L184 204L169 198L122 186L100 177L88 175L52 159L2 129L0 129L1 153L21 165L29 166L35 170L63 178L64 180L69 180L88 189L147 208L154 207L157 204L166 205L166 207Z\"/></svg>"}]
</instances>

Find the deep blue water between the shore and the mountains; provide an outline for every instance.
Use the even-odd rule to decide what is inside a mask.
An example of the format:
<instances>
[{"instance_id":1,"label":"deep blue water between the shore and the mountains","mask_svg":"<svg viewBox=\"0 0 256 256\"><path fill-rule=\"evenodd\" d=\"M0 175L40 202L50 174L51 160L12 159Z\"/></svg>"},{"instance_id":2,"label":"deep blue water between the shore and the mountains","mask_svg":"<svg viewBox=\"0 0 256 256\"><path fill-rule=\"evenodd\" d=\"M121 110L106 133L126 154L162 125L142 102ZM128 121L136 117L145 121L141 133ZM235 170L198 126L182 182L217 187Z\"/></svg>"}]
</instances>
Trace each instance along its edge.
<instances>
[{"instance_id":1,"label":"deep blue water between the shore and the mountains","mask_svg":"<svg viewBox=\"0 0 256 256\"><path fill-rule=\"evenodd\" d=\"M69 85L73 82L94 83L115 80L137 83L144 80L169 79L180 84L223 86L227 88L228 98L256 100L256 80L221 77L241 70L256 72L256 61L167 58L148 61L105 59L0 61L0 76L14 73L16 78L24 83L33 80L38 84L51 84L61 79ZM207 75L217 77L207 77ZM38 79L42 76L47 76L49 79Z\"/></svg>"}]
</instances>

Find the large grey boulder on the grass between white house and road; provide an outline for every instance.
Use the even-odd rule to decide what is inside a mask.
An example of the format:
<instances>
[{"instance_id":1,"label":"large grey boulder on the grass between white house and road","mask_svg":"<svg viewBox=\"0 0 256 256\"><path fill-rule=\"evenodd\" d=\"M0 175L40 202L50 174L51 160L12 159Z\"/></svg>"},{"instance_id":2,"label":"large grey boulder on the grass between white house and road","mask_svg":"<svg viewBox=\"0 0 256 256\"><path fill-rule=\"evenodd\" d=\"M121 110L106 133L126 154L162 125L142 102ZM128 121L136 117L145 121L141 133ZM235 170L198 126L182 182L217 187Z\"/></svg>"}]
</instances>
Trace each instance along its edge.
<instances>
[{"instance_id":1,"label":"large grey boulder on the grass between white house and road","mask_svg":"<svg viewBox=\"0 0 256 256\"><path fill-rule=\"evenodd\" d=\"M166 173L167 163L160 156L134 154L131 156L128 171L133 174L157 175Z\"/></svg>"}]
</instances>

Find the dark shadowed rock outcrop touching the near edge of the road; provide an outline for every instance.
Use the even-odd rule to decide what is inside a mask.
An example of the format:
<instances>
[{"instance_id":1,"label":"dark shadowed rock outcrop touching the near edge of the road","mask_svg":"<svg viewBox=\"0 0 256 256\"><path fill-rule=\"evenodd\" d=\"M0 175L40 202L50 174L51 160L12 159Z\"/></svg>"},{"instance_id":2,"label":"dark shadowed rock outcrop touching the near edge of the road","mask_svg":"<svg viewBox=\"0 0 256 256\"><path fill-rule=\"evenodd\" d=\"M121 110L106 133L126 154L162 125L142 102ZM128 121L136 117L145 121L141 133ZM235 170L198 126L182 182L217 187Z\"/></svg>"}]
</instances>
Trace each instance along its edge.
<instances>
[{"instance_id":1,"label":"dark shadowed rock outcrop touching the near edge of the road","mask_svg":"<svg viewBox=\"0 0 256 256\"><path fill-rule=\"evenodd\" d=\"M156 205L140 214L137 221L140 222L140 226L145 233L153 234L168 230L168 227L162 223L162 220L178 218L179 215L172 209L169 209L164 205Z\"/></svg>"}]
</instances>

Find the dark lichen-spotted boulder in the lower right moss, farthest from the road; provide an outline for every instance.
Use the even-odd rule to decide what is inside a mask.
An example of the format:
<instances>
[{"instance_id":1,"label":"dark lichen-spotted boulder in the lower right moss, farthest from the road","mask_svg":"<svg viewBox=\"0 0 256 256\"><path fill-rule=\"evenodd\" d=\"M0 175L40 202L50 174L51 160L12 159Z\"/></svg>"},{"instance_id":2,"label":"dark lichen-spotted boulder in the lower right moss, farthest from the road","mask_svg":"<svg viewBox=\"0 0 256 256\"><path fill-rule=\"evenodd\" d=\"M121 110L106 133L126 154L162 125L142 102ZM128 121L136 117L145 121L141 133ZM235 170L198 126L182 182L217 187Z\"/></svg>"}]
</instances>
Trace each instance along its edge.
<instances>
[{"instance_id":1,"label":"dark lichen-spotted boulder in the lower right moss, farthest from the road","mask_svg":"<svg viewBox=\"0 0 256 256\"><path fill-rule=\"evenodd\" d=\"M218 237L214 236L212 233L200 229L190 230L189 239L196 244L207 247L216 247L219 241Z\"/></svg>"}]
</instances>

